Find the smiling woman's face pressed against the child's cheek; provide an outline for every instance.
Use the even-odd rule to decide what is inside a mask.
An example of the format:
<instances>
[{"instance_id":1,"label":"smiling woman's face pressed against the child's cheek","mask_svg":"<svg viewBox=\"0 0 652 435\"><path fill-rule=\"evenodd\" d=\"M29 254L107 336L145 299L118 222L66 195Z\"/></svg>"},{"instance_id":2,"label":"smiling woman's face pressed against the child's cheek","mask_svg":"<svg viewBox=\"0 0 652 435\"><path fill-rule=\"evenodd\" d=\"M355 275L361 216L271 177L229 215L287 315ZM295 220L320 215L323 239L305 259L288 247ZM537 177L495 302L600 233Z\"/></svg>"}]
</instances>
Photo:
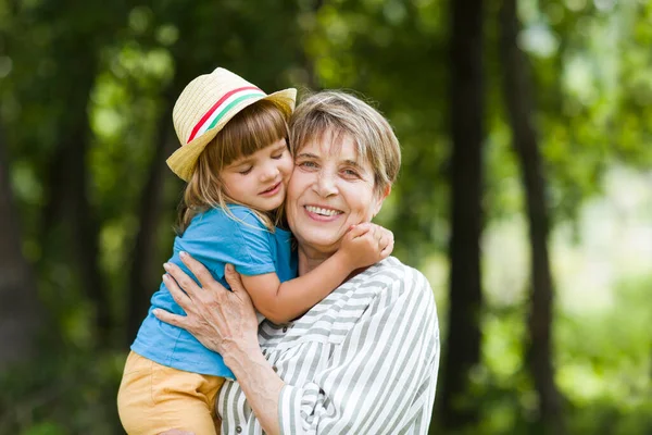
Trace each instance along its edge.
<instances>
[{"instance_id":1,"label":"smiling woman's face pressed against the child's cheek","mask_svg":"<svg viewBox=\"0 0 652 435\"><path fill-rule=\"evenodd\" d=\"M286 211L301 248L333 253L351 225L369 222L389 194L378 194L374 171L346 135L326 133L294 156Z\"/></svg>"}]
</instances>

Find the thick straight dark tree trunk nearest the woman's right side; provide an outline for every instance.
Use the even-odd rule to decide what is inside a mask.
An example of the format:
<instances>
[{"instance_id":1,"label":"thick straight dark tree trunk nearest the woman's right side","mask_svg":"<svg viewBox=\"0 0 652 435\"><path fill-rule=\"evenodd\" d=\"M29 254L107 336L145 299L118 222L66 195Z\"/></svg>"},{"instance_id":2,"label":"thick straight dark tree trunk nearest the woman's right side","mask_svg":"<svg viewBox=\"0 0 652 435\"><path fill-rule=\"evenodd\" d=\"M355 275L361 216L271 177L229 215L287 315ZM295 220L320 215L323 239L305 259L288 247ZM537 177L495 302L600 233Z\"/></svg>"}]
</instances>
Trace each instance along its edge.
<instances>
[{"instance_id":1,"label":"thick straight dark tree trunk nearest the woman's right side","mask_svg":"<svg viewBox=\"0 0 652 435\"><path fill-rule=\"evenodd\" d=\"M477 401L467 394L469 371L480 362L481 340L482 0L451 0L450 8L452 234L441 418L446 430L457 430L478 419Z\"/></svg>"}]
</instances>

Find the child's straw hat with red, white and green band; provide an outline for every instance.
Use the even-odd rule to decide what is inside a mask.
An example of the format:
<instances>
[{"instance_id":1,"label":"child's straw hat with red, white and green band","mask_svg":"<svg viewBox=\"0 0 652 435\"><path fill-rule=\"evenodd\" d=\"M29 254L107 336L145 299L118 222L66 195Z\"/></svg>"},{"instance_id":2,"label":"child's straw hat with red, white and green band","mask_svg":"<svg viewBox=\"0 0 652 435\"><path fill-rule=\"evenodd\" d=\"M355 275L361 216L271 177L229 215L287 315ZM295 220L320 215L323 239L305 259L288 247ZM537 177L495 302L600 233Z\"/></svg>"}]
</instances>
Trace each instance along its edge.
<instances>
[{"instance_id":1,"label":"child's straw hat with red, white and green band","mask_svg":"<svg viewBox=\"0 0 652 435\"><path fill-rule=\"evenodd\" d=\"M188 182L199 154L238 112L259 100L269 100L289 117L296 99L297 89L266 95L223 67L200 75L186 86L174 104L172 120L181 147L167 159L167 165Z\"/></svg>"}]
</instances>

